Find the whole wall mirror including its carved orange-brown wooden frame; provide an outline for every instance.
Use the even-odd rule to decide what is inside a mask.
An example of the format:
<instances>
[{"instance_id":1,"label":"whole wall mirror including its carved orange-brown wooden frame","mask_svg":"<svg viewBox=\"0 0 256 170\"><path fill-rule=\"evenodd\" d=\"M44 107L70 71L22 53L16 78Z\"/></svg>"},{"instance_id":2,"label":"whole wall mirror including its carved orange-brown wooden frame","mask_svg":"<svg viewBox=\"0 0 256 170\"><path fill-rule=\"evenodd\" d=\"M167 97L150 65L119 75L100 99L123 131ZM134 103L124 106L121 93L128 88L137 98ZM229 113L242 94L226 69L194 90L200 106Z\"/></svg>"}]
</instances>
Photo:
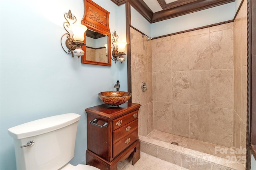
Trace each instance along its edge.
<instances>
[{"instance_id":1,"label":"whole wall mirror including its carved orange-brown wooden frame","mask_svg":"<svg viewBox=\"0 0 256 170\"><path fill-rule=\"evenodd\" d=\"M82 63L111 66L111 35L108 25L109 12L92 0L84 0L85 14L82 24L85 32L85 46Z\"/></svg>"}]
</instances>

